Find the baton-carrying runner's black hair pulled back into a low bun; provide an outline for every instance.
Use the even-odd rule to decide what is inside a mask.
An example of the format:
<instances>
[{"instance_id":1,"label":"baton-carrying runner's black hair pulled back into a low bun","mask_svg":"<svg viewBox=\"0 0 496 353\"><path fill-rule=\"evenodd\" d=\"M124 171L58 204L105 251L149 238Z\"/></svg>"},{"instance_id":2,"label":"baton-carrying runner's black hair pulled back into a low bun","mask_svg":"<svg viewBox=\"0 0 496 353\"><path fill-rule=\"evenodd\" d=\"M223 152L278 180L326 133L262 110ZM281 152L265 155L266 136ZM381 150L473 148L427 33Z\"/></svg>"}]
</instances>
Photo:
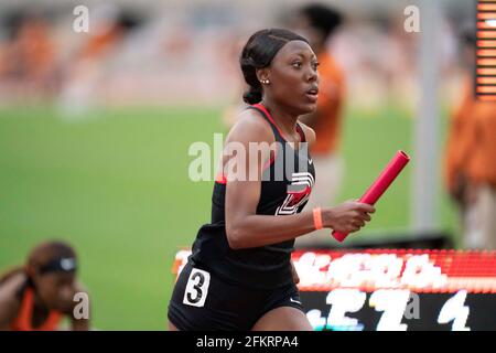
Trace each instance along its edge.
<instances>
[{"instance_id":1,"label":"baton-carrying runner's black hair pulled back into a low bun","mask_svg":"<svg viewBox=\"0 0 496 353\"><path fill-rule=\"evenodd\" d=\"M306 39L291 31L270 29L254 33L245 44L239 64L245 82L250 86L242 95L242 100L247 104L256 104L262 99L263 89L258 81L257 69L268 67L276 54L290 41L309 43Z\"/></svg>"}]
</instances>

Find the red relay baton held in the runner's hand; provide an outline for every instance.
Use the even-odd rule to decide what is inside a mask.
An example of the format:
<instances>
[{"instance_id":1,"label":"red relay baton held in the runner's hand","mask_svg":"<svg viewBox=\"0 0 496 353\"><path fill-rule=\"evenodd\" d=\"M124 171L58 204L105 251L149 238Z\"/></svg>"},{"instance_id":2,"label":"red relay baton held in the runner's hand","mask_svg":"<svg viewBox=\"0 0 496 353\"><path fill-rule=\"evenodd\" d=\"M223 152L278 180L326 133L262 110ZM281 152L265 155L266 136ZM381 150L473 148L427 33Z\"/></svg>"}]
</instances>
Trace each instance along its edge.
<instances>
[{"instance_id":1,"label":"red relay baton held in the runner's hand","mask_svg":"<svg viewBox=\"0 0 496 353\"><path fill-rule=\"evenodd\" d=\"M368 188L367 192L362 196L359 202L374 205L409 161L410 157L407 153L403 151L398 151L389 161L388 165L386 165L382 170L379 178L377 178L374 184ZM347 233L341 232L333 232L332 234L337 242L343 242L348 235Z\"/></svg>"}]
</instances>

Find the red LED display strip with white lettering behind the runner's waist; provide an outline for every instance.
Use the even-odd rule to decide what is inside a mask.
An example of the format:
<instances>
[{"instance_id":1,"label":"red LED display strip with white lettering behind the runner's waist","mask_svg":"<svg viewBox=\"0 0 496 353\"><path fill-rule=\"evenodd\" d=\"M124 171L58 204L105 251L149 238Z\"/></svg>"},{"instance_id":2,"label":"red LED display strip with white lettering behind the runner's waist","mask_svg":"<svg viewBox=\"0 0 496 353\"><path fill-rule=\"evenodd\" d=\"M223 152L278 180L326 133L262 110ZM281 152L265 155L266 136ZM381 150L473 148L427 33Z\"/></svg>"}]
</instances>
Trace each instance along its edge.
<instances>
[{"instance_id":1,"label":"red LED display strip with white lettering behind the runner's waist","mask_svg":"<svg viewBox=\"0 0 496 353\"><path fill-rule=\"evenodd\" d=\"M191 250L177 252L173 272ZM292 260L302 291L356 288L409 289L414 292L496 293L496 252L477 250L296 250Z\"/></svg>"}]
</instances>

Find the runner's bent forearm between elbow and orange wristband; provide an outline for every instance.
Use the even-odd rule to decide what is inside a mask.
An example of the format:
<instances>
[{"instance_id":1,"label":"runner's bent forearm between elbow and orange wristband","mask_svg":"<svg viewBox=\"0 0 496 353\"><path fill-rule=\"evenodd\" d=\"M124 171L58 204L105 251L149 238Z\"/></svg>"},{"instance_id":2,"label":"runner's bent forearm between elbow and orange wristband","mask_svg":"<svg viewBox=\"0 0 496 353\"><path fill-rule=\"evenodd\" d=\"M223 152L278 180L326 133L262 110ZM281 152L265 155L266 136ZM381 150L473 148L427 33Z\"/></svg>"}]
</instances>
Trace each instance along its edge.
<instances>
[{"instance_id":1,"label":"runner's bent forearm between elbow and orange wristband","mask_svg":"<svg viewBox=\"0 0 496 353\"><path fill-rule=\"evenodd\" d=\"M288 216L249 215L226 224L229 246L235 249L285 242L312 231L312 211Z\"/></svg>"}]
</instances>

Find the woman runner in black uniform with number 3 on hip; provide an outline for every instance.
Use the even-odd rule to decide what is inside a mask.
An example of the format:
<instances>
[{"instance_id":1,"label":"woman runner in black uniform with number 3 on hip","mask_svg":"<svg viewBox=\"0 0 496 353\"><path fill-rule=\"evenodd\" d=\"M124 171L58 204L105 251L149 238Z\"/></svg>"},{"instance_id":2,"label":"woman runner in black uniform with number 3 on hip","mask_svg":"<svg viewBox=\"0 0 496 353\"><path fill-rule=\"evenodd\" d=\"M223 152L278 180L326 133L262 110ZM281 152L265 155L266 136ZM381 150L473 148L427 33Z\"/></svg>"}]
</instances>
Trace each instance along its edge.
<instances>
[{"instance_id":1,"label":"woman runner in black uniform with number 3 on hip","mask_svg":"<svg viewBox=\"0 0 496 353\"><path fill-rule=\"evenodd\" d=\"M175 284L169 329L312 330L293 280L294 239L322 227L356 232L375 208L351 201L302 212L315 181L306 145L315 132L298 121L319 94L309 42L287 30L259 31L240 65L249 106L226 139L212 221ZM254 152L254 143L274 148Z\"/></svg>"}]
</instances>

